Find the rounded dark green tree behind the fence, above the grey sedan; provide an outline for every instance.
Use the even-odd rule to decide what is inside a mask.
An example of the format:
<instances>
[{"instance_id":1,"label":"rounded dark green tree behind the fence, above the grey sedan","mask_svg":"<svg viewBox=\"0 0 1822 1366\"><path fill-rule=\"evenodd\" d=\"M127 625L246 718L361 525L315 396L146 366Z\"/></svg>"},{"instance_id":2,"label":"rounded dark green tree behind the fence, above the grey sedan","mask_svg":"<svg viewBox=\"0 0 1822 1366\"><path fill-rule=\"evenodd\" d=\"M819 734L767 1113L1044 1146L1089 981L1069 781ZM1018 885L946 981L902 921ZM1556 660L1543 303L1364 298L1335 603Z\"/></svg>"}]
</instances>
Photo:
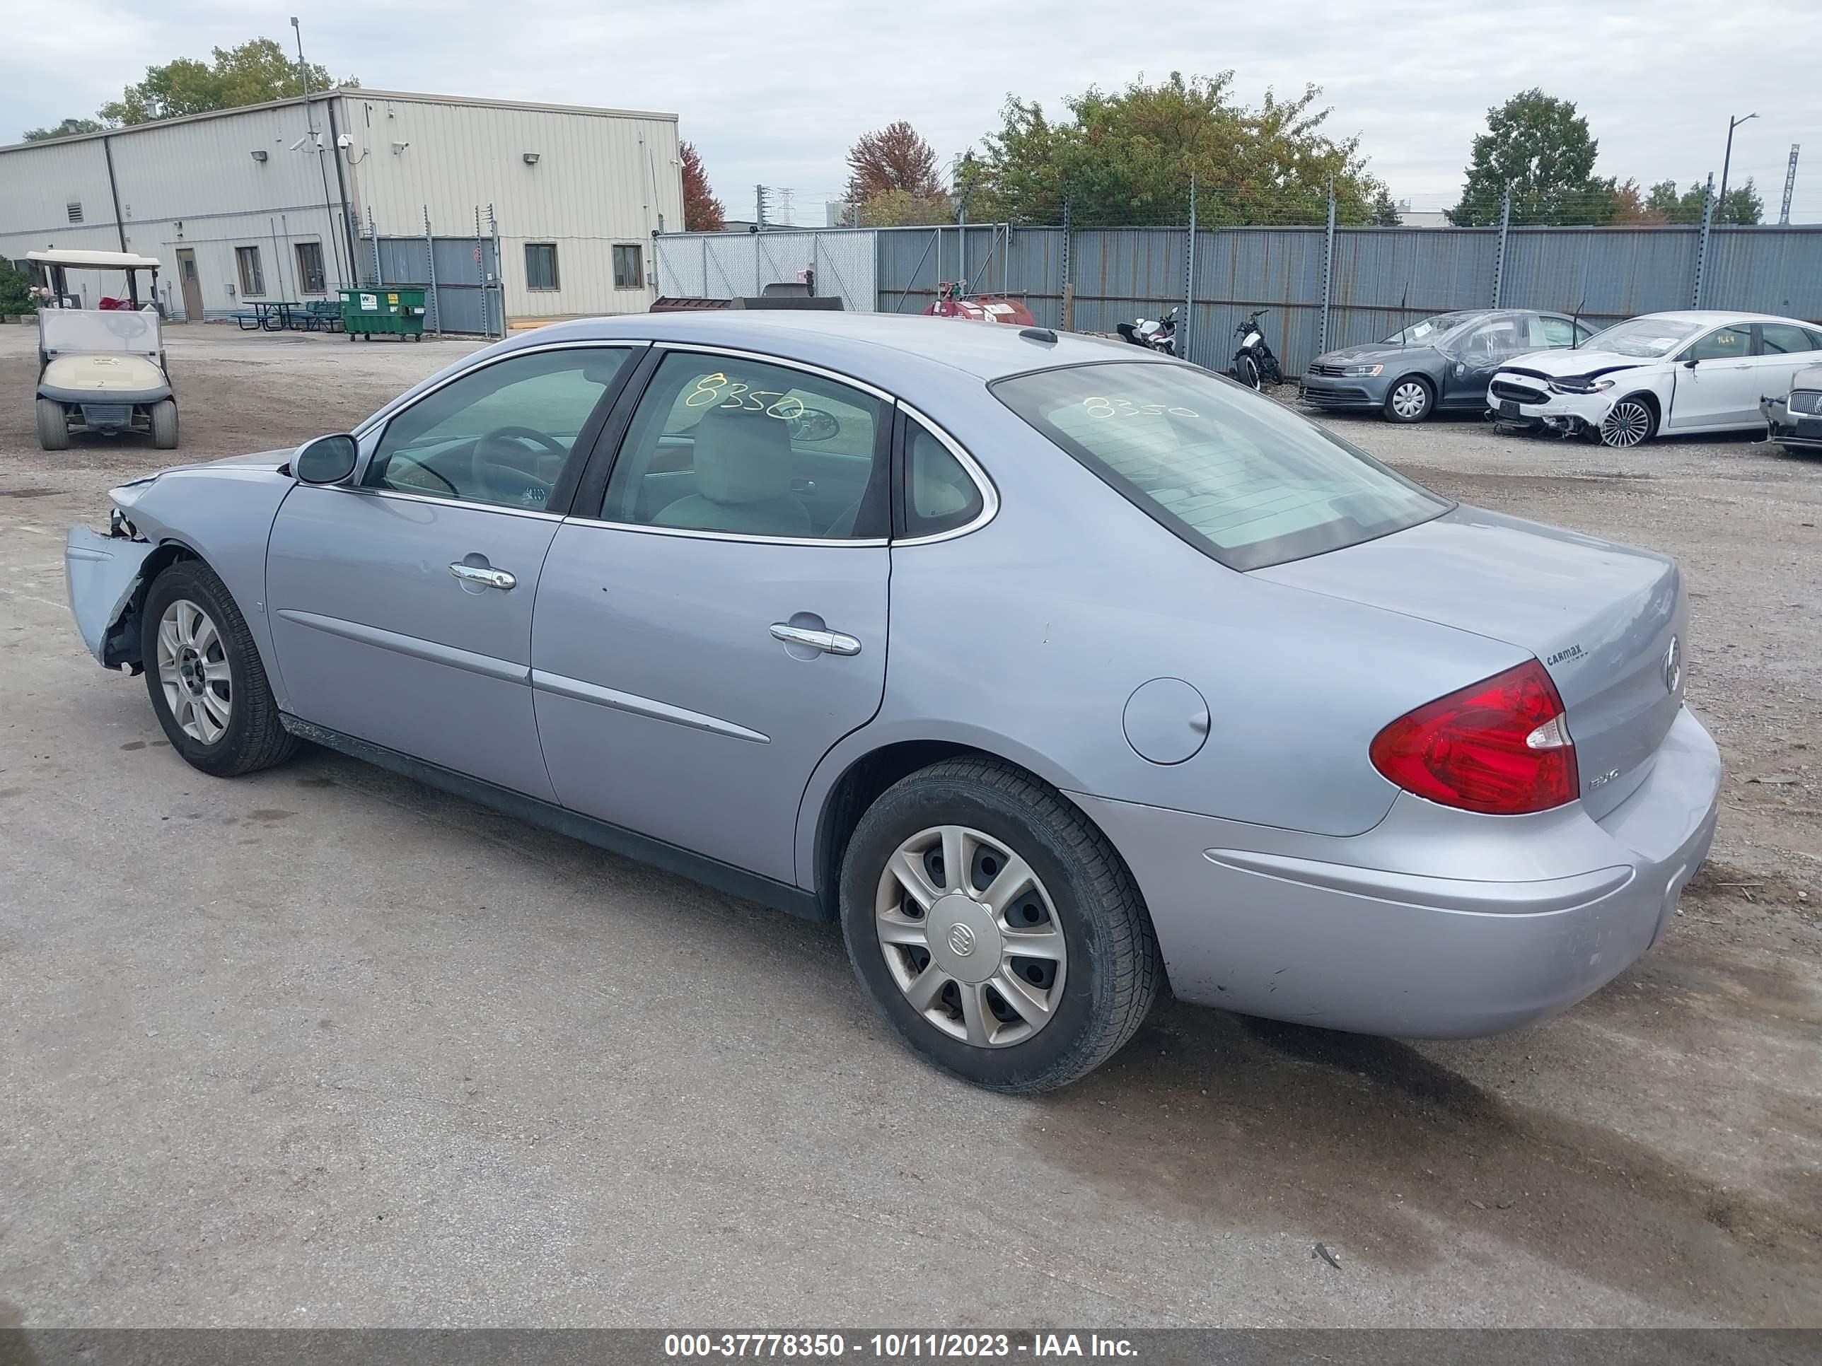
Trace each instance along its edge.
<instances>
[{"instance_id":1,"label":"rounded dark green tree behind the fence, above the grey sedan","mask_svg":"<svg viewBox=\"0 0 1822 1366\"><path fill-rule=\"evenodd\" d=\"M1487 111L1487 131L1474 138L1461 202L1448 220L1496 224L1510 191L1512 222L1607 222L1616 186L1594 177L1598 149L1589 120L1572 102L1541 89L1520 91Z\"/></svg>"}]
</instances>

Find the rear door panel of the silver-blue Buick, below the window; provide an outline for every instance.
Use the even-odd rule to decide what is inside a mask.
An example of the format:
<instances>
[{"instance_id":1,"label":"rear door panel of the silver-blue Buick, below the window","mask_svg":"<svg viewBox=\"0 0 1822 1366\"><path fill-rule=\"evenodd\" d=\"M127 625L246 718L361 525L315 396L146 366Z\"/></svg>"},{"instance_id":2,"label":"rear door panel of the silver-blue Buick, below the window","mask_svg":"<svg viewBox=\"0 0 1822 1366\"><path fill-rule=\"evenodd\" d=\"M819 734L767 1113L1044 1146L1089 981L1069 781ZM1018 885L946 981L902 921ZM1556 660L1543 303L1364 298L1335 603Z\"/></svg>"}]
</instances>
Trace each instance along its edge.
<instances>
[{"instance_id":1,"label":"rear door panel of the silver-blue Buick, below the window","mask_svg":"<svg viewBox=\"0 0 1822 1366\"><path fill-rule=\"evenodd\" d=\"M794 882L798 803L885 688L889 552L565 523L537 585L537 732L563 805ZM853 636L822 654L773 637Z\"/></svg>"}]
</instances>

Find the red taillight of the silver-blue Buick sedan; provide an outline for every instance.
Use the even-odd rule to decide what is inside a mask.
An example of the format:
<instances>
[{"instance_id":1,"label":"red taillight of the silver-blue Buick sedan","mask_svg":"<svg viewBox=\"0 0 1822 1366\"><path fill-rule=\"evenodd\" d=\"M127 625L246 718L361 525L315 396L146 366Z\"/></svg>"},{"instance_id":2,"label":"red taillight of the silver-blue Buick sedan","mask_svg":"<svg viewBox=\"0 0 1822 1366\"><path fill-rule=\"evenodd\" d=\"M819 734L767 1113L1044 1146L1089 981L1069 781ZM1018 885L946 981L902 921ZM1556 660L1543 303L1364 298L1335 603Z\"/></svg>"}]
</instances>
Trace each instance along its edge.
<instances>
[{"instance_id":1,"label":"red taillight of the silver-blue Buick sedan","mask_svg":"<svg viewBox=\"0 0 1822 1366\"><path fill-rule=\"evenodd\" d=\"M1490 816L1560 807L1580 783L1563 699L1536 659L1397 718L1370 754L1407 792Z\"/></svg>"}]
</instances>

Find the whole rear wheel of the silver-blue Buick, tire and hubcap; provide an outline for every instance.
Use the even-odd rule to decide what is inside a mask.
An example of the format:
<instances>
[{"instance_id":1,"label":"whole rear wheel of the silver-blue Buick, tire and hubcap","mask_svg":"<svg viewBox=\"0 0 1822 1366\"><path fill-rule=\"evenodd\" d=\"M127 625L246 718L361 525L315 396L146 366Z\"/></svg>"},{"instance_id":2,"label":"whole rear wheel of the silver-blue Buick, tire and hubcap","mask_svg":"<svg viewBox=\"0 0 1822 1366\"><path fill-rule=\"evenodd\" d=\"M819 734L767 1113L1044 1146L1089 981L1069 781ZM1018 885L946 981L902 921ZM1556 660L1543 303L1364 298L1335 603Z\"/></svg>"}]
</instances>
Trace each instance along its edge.
<instances>
[{"instance_id":1,"label":"whole rear wheel of the silver-blue Buick, tire and hubcap","mask_svg":"<svg viewBox=\"0 0 1822 1366\"><path fill-rule=\"evenodd\" d=\"M1049 1091L1110 1058L1162 982L1113 847L995 759L887 789L842 860L842 927L873 1004L927 1062L991 1091Z\"/></svg>"}]
</instances>

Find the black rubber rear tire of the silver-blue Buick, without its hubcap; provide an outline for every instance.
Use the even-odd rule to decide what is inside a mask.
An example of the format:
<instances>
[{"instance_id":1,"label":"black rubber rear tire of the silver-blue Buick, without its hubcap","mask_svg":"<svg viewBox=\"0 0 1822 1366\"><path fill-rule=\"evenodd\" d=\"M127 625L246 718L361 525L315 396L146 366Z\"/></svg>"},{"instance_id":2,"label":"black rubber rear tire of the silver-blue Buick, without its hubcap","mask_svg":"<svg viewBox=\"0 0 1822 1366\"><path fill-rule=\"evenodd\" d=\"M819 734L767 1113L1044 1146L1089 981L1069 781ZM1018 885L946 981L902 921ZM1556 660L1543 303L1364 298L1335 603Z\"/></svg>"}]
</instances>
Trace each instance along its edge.
<instances>
[{"instance_id":1,"label":"black rubber rear tire of the silver-blue Buick, without its hubcap","mask_svg":"<svg viewBox=\"0 0 1822 1366\"><path fill-rule=\"evenodd\" d=\"M1068 949L1053 1018L1008 1047L978 1047L926 1020L893 978L875 900L900 843L966 825L1017 852L1044 883ZM1033 1095L1084 1076L1133 1036L1164 980L1152 920L1108 838L1055 789L998 759L946 759L900 780L860 818L842 858L842 933L875 1007L913 1053L953 1076Z\"/></svg>"}]
</instances>

